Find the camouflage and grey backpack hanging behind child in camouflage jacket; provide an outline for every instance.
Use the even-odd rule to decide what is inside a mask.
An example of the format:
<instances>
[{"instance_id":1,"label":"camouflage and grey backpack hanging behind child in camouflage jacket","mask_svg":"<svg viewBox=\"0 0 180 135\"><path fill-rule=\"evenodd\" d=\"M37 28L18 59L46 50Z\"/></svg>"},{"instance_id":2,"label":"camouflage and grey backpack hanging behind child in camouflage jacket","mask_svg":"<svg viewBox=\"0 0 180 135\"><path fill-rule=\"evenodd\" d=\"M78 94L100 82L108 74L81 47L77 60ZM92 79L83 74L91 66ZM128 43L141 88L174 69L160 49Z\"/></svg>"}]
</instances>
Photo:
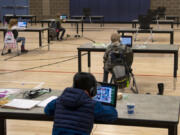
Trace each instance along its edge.
<instances>
[{"instance_id":1,"label":"camouflage and grey backpack hanging behind child in camouflage jacket","mask_svg":"<svg viewBox=\"0 0 180 135\"><path fill-rule=\"evenodd\" d=\"M119 88L129 86L132 62L133 52L131 48L119 45L110 50L108 54L109 70L112 73L114 83Z\"/></svg>"}]
</instances>

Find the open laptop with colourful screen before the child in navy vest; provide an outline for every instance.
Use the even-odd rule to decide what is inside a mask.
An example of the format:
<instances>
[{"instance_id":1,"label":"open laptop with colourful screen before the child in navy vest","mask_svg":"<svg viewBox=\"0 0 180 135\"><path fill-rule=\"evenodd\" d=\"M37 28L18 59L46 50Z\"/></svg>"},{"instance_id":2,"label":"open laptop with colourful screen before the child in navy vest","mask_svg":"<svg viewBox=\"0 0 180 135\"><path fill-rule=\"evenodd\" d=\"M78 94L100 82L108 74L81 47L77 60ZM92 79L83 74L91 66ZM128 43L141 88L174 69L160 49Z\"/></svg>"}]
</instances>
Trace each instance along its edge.
<instances>
[{"instance_id":1,"label":"open laptop with colourful screen before the child in navy vest","mask_svg":"<svg viewBox=\"0 0 180 135\"><path fill-rule=\"evenodd\" d=\"M98 82L97 94L93 99L102 104L116 107L117 90L117 85Z\"/></svg>"}]
</instances>

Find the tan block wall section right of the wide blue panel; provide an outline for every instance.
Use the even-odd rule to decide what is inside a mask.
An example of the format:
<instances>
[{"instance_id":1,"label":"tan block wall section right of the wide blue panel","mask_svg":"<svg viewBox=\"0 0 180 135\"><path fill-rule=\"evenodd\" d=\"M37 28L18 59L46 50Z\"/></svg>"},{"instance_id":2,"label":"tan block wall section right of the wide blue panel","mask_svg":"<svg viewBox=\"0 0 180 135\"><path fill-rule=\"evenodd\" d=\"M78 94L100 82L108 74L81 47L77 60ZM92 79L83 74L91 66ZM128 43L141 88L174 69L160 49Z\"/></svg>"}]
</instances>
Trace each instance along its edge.
<instances>
[{"instance_id":1,"label":"tan block wall section right of the wide blue panel","mask_svg":"<svg viewBox=\"0 0 180 135\"><path fill-rule=\"evenodd\" d=\"M180 16L180 0L151 0L151 9L156 9L160 6L166 7L167 15Z\"/></svg>"}]
</instances>

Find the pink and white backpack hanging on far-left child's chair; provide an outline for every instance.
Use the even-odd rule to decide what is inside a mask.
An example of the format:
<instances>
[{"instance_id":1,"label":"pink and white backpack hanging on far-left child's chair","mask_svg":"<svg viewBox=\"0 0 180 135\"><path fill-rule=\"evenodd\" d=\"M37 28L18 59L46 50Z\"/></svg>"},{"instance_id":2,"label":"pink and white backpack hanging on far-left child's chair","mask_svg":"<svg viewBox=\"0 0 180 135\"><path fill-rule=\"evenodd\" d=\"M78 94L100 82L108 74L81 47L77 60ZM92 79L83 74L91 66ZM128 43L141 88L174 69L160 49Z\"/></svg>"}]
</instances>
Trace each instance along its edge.
<instances>
[{"instance_id":1,"label":"pink and white backpack hanging on far-left child's chair","mask_svg":"<svg viewBox=\"0 0 180 135\"><path fill-rule=\"evenodd\" d=\"M13 49L16 48L16 39L12 31L7 31L4 38L4 48Z\"/></svg>"}]
</instances>

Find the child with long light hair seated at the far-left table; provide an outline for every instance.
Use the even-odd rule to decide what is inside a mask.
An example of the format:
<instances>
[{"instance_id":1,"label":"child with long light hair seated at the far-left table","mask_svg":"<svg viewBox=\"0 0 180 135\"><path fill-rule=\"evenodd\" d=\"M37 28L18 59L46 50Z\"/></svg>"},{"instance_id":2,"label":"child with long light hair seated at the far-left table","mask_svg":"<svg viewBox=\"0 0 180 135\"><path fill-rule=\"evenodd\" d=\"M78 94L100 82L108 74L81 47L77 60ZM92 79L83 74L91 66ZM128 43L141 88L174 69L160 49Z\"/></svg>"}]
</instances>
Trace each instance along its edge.
<instances>
[{"instance_id":1,"label":"child with long light hair seated at the far-left table","mask_svg":"<svg viewBox=\"0 0 180 135\"><path fill-rule=\"evenodd\" d=\"M11 19L9 22L8 29L12 30L16 42L22 42L21 53L27 53L28 50L25 49L25 37L18 37L17 29L21 29L21 28L19 28L17 24L18 24L17 19ZM9 49L8 52L11 53L11 50Z\"/></svg>"}]
</instances>

